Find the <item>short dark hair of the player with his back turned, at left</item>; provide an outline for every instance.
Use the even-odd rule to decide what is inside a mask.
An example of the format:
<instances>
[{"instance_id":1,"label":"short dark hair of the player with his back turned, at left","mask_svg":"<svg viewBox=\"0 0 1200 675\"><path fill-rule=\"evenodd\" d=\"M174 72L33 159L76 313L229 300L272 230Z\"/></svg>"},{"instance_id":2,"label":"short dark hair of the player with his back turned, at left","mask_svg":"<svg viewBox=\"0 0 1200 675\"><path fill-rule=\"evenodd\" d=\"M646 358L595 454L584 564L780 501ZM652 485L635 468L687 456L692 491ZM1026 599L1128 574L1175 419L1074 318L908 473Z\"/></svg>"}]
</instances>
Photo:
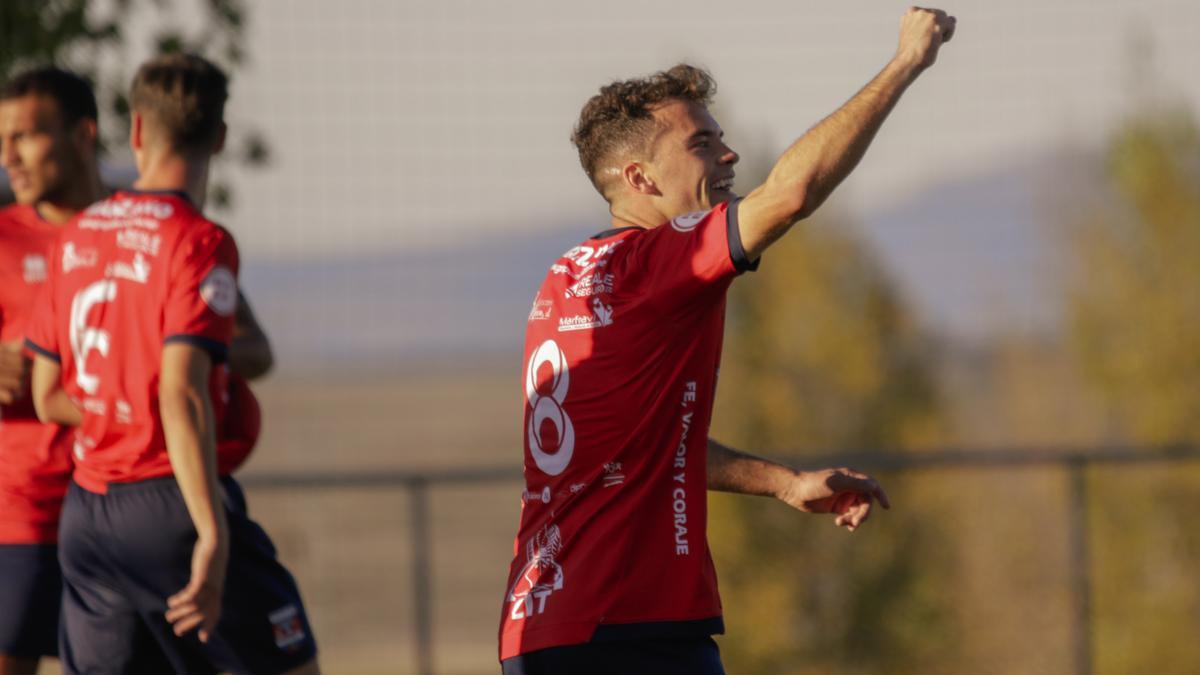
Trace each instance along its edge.
<instances>
[{"instance_id":1,"label":"short dark hair of the player with his back turned, at left","mask_svg":"<svg viewBox=\"0 0 1200 675\"><path fill-rule=\"evenodd\" d=\"M130 107L179 150L206 150L224 125L229 78L196 54L167 54L142 65Z\"/></svg>"}]
</instances>

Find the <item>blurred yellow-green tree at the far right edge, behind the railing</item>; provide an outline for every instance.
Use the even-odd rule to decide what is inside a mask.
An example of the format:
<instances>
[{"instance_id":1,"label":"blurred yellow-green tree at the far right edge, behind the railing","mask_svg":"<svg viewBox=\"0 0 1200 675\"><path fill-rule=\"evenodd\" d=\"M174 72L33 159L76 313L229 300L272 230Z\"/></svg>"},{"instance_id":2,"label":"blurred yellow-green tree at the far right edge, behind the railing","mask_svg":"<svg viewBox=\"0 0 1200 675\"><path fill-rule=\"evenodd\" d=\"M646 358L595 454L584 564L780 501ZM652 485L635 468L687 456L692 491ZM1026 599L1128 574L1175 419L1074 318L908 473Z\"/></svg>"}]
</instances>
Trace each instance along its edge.
<instances>
[{"instance_id":1,"label":"blurred yellow-green tree at the far right edge, behind the railing","mask_svg":"<svg viewBox=\"0 0 1200 675\"><path fill-rule=\"evenodd\" d=\"M1142 113L1070 228L1069 328L1115 440L1200 442L1200 127ZM1200 471L1093 473L1099 673L1200 673Z\"/></svg>"}]
</instances>

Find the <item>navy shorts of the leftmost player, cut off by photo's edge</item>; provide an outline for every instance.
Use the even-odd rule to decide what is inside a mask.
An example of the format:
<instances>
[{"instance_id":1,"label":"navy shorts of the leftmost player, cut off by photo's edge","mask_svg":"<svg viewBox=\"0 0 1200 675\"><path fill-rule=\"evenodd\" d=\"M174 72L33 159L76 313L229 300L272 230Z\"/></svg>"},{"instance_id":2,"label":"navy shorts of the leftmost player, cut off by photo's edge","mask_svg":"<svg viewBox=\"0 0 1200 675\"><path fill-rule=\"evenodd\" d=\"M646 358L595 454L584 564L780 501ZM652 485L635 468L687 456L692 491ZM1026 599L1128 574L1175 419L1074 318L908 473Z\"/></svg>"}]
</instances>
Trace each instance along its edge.
<instances>
[{"instance_id":1,"label":"navy shorts of the leftmost player, cut off by photo's edge","mask_svg":"<svg viewBox=\"0 0 1200 675\"><path fill-rule=\"evenodd\" d=\"M58 656L62 574L54 544L0 544L0 655Z\"/></svg>"}]
</instances>

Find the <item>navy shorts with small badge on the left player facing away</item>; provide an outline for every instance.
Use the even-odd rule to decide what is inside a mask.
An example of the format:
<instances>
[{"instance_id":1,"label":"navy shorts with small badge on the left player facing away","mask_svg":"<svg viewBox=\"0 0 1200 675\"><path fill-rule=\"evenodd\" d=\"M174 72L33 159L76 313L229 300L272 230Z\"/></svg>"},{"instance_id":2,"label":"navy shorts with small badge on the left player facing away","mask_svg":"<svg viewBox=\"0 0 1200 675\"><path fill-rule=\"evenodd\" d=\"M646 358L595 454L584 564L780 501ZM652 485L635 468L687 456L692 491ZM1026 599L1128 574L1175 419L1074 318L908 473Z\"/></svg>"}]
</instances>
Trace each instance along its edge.
<instances>
[{"instance_id":1,"label":"navy shorts with small badge on the left player facing away","mask_svg":"<svg viewBox=\"0 0 1200 675\"><path fill-rule=\"evenodd\" d=\"M246 673L270 675L312 661L317 644L295 580L245 509L241 488L221 478L229 567L221 621L206 644L175 637L167 598L191 577L196 528L174 478L71 485L62 506L64 673Z\"/></svg>"}]
</instances>

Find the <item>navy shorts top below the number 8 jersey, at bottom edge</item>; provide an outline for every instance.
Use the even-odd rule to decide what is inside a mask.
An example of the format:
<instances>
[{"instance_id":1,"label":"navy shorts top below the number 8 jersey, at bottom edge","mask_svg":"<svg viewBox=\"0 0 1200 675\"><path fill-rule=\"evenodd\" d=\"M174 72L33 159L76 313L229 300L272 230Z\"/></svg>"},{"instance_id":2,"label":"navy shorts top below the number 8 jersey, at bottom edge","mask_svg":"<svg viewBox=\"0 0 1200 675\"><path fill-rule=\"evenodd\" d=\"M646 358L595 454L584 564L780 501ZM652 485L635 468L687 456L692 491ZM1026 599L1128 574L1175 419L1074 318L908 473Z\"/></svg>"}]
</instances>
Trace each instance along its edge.
<instances>
[{"instance_id":1,"label":"navy shorts top below the number 8 jersey, at bottom edge","mask_svg":"<svg viewBox=\"0 0 1200 675\"><path fill-rule=\"evenodd\" d=\"M500 667L504 675L725 675L708 637L550 647L506 658Z\"/></svg>"}]
</instances>

